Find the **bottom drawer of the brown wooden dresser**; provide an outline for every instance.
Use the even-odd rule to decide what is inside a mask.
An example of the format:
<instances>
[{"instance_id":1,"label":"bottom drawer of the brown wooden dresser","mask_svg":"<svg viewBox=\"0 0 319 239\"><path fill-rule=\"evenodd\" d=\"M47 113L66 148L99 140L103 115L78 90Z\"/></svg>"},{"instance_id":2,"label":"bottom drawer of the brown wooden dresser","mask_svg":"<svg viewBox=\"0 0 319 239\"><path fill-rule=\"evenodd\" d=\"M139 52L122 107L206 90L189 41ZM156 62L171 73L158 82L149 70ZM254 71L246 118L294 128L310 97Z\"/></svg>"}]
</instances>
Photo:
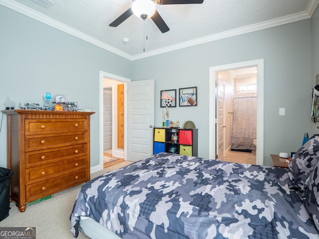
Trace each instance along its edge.
<instances>
[{"instance_id":1,"label":"bottom drawer of the brown wooden dresser","mask_svg":"<svg viewBox=\"0 0 319 239\"><path fill-rule=\"evenodd\" d=\"M33 202L39 198L51 195L61 190L84 183L89 178L86 177L87 169L68 173L59 177L54 177L38 183L25 186L26 202Z\"/></svg>"}]
</instances>

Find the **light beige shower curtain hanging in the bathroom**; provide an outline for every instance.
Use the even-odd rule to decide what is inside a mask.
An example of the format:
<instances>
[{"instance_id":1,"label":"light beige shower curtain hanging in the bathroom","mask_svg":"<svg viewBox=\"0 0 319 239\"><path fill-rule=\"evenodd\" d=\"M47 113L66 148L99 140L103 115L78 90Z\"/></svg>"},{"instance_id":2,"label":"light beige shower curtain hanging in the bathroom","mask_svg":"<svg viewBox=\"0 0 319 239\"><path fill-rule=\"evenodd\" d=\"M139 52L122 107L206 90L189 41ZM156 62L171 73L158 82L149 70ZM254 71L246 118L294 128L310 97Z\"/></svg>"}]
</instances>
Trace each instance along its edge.
<instances>
[{"instance_id":1,"label":"light beige shower curtain hanging in the bathroom","mask_svg":"<svg viewBox=\"0 0 319 239\"><path fill-rule=\"evenodd\" d=\"M233 98L231 149L256 150L253 140L257 137L257 96Z\"/></svg>"}]
</instances>

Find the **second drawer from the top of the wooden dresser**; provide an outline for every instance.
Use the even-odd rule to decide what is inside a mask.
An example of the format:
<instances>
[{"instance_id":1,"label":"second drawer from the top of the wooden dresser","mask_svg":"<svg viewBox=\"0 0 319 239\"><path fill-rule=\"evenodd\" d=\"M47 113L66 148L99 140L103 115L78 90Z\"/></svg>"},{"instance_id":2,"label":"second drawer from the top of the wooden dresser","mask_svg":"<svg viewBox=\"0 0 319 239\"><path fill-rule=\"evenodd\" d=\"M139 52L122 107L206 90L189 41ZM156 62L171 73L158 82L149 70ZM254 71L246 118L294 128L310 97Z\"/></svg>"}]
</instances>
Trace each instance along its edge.
<instances>
[{"instance_id":1,"label":"second drawer from the top of the wooden dresser","mask_svg":"<svg viewBox=\"0 0 319 239\"><path fill-rule=\"evenodd\" d=\"M87 143L87 132L26 135L25 151Z\"/></svg>"}]
</instances>

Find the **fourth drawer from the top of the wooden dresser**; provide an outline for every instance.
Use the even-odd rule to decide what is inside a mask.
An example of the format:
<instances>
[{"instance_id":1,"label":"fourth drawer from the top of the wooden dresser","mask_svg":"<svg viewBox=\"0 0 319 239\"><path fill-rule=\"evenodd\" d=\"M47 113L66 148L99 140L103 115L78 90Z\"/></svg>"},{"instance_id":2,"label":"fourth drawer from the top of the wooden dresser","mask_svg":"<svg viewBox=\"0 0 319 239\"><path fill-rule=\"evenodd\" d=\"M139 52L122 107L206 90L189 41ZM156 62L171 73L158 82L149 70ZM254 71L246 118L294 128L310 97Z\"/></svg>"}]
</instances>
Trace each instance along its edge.
<instances>
[{"instance_id":1,"label":"fourth drawer from the top of the wooden dresser","mask_svg":"<svg viewBox=\"0 0 319 239\"><path fill-rule=\"evenodd\" d=\"M86 167L86 158L76 158L61 161L60 164L48 164L45 167L33 167L25 170L25 184L39 182L51 177L60 176L66 172L78 170L81 167Z\"/></svg>"}]
</instances>

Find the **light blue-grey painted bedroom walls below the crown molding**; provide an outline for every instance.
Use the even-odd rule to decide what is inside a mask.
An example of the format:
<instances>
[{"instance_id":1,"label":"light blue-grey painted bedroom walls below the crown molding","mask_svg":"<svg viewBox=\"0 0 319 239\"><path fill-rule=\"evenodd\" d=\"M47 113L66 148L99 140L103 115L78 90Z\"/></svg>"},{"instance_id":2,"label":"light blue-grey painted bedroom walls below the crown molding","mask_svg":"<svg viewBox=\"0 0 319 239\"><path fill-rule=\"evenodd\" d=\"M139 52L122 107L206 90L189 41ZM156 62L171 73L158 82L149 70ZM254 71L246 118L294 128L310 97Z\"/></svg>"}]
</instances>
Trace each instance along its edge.
<instances>
[{"instance_id":1,"label":"light blue-grey painted bedroom walls below the crown molding","mask_svg":"<svg viewBox=\"0 0 319 239\"><path fill-rule=\"evenodd\" d=\"M16 103L42 103L47 91L78 101L80 108L96 112L91 118L91 166L95 166L99 71L133 80L155 79L156 125L163 109L160 90L197 86L198 106L170 108L170 118L182 124L195 122L199 156L208 157L209 67L264 59L264 160L271 165L270 153L297 150L304 132L315 132L310 92L317 74L312 59L319 69L319 48L313 47L317 53L312 55L311 43L319 38L318 11L315 16L313 25L311 19L302 20L131 62L0 5L0 109L7 97ZM279 108L286 108L286 116L279 116ZM0 166L6 166L5 117Z\"/></svg>"}]
</instances>

